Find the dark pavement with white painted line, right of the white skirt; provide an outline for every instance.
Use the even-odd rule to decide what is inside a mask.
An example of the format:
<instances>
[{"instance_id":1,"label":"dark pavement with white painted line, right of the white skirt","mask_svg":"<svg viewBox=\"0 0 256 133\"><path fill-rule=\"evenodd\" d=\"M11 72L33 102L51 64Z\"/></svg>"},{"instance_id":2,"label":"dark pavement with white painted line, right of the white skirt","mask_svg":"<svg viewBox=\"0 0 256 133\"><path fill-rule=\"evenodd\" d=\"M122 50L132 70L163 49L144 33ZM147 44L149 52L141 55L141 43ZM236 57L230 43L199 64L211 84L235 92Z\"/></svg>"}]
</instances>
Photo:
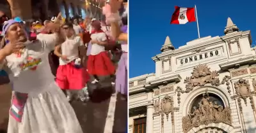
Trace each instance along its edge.
<instances>
[{"instance_id":1,"label":"dark pavement with white painted line, right of the white skirt","mask_svg":"<svg viewBox=\"0 0 256 133\"><path fill-rule=\"evenodd\" d=\"M127 101L120 94L96 92L85 104L72 102L84 133L125 133L127 130Z\"/></svg>"}]
</instances>

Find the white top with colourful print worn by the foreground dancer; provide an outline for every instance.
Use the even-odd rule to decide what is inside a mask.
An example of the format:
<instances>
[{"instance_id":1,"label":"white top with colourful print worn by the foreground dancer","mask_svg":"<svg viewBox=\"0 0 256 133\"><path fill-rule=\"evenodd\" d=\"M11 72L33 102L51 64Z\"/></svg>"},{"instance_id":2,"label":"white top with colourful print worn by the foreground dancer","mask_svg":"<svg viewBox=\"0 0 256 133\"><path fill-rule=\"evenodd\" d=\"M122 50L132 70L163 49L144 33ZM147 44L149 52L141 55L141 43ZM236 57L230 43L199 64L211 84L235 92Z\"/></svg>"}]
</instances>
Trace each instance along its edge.
<instances>
[{"instance_id":1,"label":"white top with colourful print worn by the foreground dancer","mask_svg":"<svg viewBox=\"0 0 256 133\"><path fill-rule=\"evenodd\" d=\"M14 53L6 57L9 78L17 92L39 94L54 83L48 53L54 50L57 34L38 34L36 38L26 44L20 57Z\"/></svg>"}]
</instances>

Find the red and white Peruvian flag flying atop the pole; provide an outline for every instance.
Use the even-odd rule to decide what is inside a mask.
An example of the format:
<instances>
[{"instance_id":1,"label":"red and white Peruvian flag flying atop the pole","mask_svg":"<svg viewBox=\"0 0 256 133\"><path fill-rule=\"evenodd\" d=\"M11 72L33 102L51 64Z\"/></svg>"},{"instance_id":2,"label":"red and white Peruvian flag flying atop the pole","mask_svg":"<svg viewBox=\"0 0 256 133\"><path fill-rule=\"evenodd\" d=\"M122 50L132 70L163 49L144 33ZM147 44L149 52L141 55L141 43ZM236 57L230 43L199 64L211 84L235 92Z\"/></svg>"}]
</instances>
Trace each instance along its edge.
<instances>
[{"instance_id":1,"label":"red and white Peruvian flag flying atop the pole","mask_svg":"<svg viewBox=\"0 0 256 133\"><path fill-rule=\"evenodd\" d=\"M179 6L175 6L171 24L186 24L187 22L195 21L195 8L180 8Z\"/></svg>"}]
</instances>

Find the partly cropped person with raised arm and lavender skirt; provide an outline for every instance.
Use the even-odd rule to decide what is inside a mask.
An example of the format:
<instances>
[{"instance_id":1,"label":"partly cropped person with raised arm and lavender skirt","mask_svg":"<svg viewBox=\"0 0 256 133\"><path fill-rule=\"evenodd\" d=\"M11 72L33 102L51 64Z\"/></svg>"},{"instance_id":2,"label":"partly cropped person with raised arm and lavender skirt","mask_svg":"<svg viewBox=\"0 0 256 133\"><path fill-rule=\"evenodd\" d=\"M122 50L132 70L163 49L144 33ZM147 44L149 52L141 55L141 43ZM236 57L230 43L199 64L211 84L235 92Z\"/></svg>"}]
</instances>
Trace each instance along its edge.
<instances>
[{"instance_id":1,"label":"partly cropped person with raised arm and lavender skirt","mask_svg":"<svg viewBox=\"0 0 256 133\"><path fill-rule=\"evenodd\" d=\"M124 1L122 1L124 2ZM106 4L103 8L103 13L106 15L106 22L111 24L111 35L118 41L122 41L122 55L118 62L118 68L116 71L116 92L120 92L127 99L127 56L128 56L128 46L127 46L127 2L124 4L124 13L122 17L118 15L118 10L120 9L120 1L111 0L109 4ZM120 28L120 20L122 20L123 26Z\"/></svg>"}]
</instances>

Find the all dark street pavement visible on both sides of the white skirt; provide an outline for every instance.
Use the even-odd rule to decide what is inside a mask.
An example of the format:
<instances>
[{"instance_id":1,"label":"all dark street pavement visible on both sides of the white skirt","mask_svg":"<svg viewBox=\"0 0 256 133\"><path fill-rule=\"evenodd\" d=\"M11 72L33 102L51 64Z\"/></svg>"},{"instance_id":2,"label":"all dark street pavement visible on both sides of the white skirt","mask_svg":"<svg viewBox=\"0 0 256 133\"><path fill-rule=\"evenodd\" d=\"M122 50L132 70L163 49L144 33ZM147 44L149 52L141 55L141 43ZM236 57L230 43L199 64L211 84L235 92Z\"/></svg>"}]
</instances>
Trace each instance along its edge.
<instances>
[{"instance_id":1,"label":"all dark street pavement visible on both sides of the white skirt","mask_svg":"<svg viewBox=\"0 0 256 133\"><path fill-rule=\"evenodd\" d=\"M11 99L10 86L0 86L0 133L6 133ZM72 102L84 133L125 133L127 130L127 101L120 94L95 92L94 99Z\"/></svg>"}]
</instances>

